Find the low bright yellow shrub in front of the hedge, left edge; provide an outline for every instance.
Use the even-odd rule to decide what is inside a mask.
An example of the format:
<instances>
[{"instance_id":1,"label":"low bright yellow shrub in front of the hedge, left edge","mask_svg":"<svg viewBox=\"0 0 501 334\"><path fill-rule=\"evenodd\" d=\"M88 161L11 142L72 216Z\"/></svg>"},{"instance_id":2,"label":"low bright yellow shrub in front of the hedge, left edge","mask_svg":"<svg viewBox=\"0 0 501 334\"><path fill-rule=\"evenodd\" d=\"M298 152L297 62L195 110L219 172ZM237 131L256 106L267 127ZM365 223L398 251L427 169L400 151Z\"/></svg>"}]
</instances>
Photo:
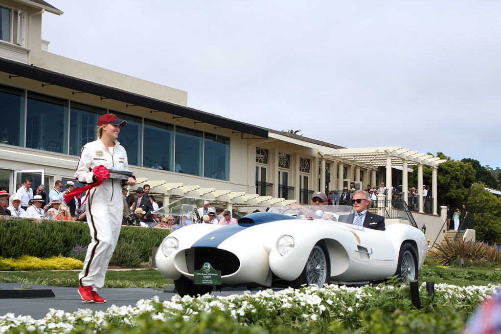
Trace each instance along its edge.
<instances>
[{"instance_id":1,"label":"low bright yellow shrub in front of the hedge, left edge","mask_svg":"<svg viewBox=\"0 0 501 334\"><path fill-rule=\"evenodd\" d=\"M62 255L45 259L28 255L17 259L0 257L0 270L71 270L83 267L84 262Z\"/></svg>"}]
</instances>

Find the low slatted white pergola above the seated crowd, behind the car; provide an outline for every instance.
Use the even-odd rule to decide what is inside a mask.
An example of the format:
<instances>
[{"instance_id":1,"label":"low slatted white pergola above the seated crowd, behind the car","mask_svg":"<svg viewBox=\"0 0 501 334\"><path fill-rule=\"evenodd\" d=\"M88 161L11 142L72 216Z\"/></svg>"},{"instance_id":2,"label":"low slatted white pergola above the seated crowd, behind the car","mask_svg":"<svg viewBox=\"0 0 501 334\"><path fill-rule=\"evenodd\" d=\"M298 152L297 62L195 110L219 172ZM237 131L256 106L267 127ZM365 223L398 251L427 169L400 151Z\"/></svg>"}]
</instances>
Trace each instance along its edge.
<instances>
[{"instance_id":1,"label":"low slatted white pergola above the seated crowd, behind the car","mask_svg":"<svg viewBox=\"0 0 501 334\"><path fill-rule=\"evenodd\" d=\"M233 207L273 207L287 206L296 203L295 199L274 198L258 194L246 194L243 191L216 190L215 188L200 188L198 185L184 185L183 183L167 183L165 180L150 181L146 178L137 178L137 183L130 187L135 191L144 184L150 185L150 194L162 197L162 205L168 205L171 200L182 197L200 198L214 204L221 204L233 212Z\"/></svg>"}]
</instances>

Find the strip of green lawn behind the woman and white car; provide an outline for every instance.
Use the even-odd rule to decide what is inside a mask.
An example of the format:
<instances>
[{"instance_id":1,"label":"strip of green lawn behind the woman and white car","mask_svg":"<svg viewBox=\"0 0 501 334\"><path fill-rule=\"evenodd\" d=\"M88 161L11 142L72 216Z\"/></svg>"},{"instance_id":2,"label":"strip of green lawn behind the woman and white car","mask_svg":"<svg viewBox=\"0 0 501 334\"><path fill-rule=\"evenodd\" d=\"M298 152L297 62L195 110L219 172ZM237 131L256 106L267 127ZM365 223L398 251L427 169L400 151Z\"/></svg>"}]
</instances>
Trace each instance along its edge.
<instances>
[{"instance_id":1,"label":"strip of green lawn behind the woman and white car","mask_svg":"<svg viewBox=\"0 0 501 334\"><path fill-rule=\"evenodd\" d=\"M501 270L423 266L419 270L419 281L460 286L499 284ZM78 272L67 270L0 272L0 282L78 287ZM165 285L173 284L171 279L165 278L155 269L108 270L104 287L164 288Z\"/></svg>"}]
</instances>

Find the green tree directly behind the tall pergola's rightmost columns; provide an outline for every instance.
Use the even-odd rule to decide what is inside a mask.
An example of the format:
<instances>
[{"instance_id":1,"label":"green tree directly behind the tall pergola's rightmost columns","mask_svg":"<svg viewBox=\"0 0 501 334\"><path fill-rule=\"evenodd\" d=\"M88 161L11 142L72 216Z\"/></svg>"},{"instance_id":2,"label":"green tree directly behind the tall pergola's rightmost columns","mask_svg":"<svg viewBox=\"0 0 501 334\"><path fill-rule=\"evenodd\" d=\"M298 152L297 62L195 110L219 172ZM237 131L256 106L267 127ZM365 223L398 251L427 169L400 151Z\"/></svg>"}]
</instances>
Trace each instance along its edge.
<instances>
[{"instance_id":1,"label":"green tree directly behind the tall pergola's rightmost columns","mask_svg":"<svg viewBox=\"0 0 501 334\"><path fill-rule=\"evenodd\" d=\"M462 205L475 180L475 170L471 164L452 160L442 152L437 152L436 157L447 160L438 165L437 205L450 204L451 207ZM423 184L431 185L431 167L423 166ZM417 187L417 166L413 166L409 186Z\"/></svg>"}]
</instances>

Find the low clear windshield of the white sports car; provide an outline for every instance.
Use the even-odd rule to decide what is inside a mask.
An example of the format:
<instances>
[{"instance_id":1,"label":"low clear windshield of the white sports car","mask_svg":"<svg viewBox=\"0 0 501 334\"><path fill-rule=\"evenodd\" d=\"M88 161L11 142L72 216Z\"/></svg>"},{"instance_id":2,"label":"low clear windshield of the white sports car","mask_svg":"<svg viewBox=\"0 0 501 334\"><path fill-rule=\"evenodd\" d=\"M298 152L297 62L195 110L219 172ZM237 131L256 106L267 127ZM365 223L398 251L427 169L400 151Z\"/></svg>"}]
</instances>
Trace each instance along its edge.
<instances>
[{"instance_id":1,"label":"low clear windshield of the white sports car","mask_svg":"<svg viewBox=\"0 0 501 334\"><path fill-rule=\"evenodd\" d=\"M352 206L340 205L291 205L272 207L269 212L283 213L294 217L307 219L324 219L332 221L349 222L349 217L355 211ZM341 218L340 218L341 217ZM353 216L352 216L353 217Z\"/></svg>"}]
</instances>

